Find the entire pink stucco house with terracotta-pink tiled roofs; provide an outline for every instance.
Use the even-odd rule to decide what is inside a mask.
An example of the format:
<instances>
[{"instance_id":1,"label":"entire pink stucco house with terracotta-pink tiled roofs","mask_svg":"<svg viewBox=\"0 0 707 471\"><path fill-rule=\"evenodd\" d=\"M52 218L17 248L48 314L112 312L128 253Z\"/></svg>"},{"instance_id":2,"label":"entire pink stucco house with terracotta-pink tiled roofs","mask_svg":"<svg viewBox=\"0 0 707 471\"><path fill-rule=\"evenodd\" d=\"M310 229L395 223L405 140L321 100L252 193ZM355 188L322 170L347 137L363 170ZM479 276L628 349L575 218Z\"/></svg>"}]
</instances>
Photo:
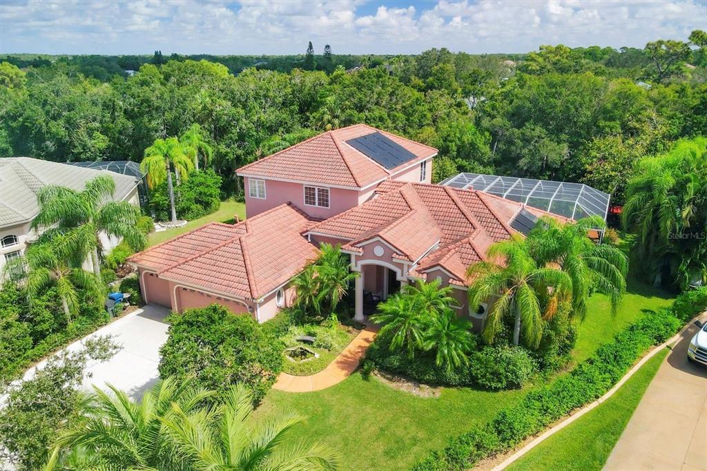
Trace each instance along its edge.
<instances>
[{"instance_id":1,"label":"entire pink stucco house with terracotta-pink tiled roofs","mask_svg":"<svg viewBox=\"0 0 707 471\"><path fill-rule=\"evenodd\" d=\"M467 267L518 233L520 219L547 213L432 185L436 153L358 124L240 168L245 221L211 223L131 257L146 301L175 311L216 302L264 322L293 303L291 279L332 243L361 274L356 319L404 284L438 279L480 329L487 306L467 305Z\"/></svg>"}]
</instances>

